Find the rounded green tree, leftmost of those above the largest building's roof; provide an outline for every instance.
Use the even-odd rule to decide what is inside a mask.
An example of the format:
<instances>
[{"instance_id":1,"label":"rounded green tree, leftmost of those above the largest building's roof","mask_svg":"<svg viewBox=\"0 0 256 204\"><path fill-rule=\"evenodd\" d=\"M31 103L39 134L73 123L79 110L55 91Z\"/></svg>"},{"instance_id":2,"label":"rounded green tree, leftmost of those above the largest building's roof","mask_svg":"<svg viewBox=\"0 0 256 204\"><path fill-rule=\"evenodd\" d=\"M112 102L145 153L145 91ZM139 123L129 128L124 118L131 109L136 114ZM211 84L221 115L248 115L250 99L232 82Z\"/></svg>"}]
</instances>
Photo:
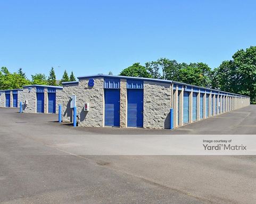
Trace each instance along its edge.
<instances>
[{"instance_id":1,"label":"rounded green tree, leftmost of those above the largest building's roof","mask_svg":"<svg viewBox=\"0 0 256 204\"><path fill-rule=\"evenodd\" d=\"M119 75L152 78L150 73L147 72L146 68L139 63L134 63L133 65L123 69Z\"/></svg>"}]
</instances>

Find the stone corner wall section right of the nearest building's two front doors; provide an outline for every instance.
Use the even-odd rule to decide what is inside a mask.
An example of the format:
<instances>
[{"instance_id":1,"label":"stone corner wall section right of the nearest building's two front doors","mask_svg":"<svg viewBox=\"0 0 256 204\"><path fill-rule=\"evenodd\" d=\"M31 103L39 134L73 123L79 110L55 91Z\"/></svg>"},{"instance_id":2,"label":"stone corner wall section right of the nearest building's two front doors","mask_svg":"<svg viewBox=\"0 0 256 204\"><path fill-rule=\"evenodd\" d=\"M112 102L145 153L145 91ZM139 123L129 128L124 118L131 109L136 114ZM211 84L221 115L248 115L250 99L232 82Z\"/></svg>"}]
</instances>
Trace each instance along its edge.
<instances>
[{"instance_id":1,"label":"stone corner wall section right of the nearest building's two front doors","mask_svg":"<svg viewBox=\"0 0 256 204\"><path fill-rule=\"evenodd\" d=\"M144 81L144 128L169 129L171 84Z\"/></svg>"}]
</instances>

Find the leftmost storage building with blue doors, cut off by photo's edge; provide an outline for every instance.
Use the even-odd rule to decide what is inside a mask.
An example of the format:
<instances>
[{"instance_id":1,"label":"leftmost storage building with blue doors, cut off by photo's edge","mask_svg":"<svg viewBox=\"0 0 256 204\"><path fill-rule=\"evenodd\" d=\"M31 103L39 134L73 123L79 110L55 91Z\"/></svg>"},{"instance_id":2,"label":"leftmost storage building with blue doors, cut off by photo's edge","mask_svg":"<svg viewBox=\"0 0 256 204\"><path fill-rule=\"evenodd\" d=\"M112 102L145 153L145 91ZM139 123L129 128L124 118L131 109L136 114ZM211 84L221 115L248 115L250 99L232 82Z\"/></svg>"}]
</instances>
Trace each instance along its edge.
<instances>
[{"instance_id":1,"label":"leftmost storage building with blue doors, cut off by photo's edge","mask_svg":"<svg viewBox=\"0 0 256 204\"><path fill-rule=\"evenodd\" d=\"M17 108L22 95L22 89L0 90L0 107Z\"/></svg>"}]
</instances>

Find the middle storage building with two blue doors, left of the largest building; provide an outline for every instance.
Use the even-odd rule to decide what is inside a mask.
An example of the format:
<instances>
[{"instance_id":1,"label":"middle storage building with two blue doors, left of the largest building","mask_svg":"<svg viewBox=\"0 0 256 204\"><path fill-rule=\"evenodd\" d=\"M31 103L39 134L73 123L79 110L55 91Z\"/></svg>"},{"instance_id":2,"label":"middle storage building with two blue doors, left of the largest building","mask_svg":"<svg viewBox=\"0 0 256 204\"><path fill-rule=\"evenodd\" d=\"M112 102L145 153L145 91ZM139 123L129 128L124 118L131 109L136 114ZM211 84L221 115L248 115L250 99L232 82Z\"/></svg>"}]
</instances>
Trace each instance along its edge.
<instances>
[{"instance_id":1,"label":"middle storage building with two blue doors, left of the largest building","mask_svg":"<svg viewBox=\"0 0 256 204\"><path fill-rule=\"evenodd\" d=\"M22 104L25 113L56 113L56 92L62 86L23 86Z\"/></svg>"}]
</instances>

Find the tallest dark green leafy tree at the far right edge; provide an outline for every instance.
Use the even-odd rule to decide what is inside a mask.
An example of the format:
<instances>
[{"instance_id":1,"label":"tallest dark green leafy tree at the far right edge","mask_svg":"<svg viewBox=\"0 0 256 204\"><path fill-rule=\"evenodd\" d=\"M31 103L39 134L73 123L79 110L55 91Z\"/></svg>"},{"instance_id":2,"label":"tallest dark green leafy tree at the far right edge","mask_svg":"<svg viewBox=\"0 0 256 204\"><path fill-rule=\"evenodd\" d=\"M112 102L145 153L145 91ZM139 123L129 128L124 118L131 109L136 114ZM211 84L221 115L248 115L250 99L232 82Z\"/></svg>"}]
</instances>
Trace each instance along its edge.
<instances>
[{"instance_id":1,"label":"tallest dark green leafy tree at the far right edge","mask_svg":"<svg viewBox=\"0 0 256 204\"><path fill-rule=\"evenodd\" d=\"M222 91L248 95L256 103L256 46L235 52L215 70ZM214 84L213 84L214 85Z\"/></svg>"}]
</instances>

